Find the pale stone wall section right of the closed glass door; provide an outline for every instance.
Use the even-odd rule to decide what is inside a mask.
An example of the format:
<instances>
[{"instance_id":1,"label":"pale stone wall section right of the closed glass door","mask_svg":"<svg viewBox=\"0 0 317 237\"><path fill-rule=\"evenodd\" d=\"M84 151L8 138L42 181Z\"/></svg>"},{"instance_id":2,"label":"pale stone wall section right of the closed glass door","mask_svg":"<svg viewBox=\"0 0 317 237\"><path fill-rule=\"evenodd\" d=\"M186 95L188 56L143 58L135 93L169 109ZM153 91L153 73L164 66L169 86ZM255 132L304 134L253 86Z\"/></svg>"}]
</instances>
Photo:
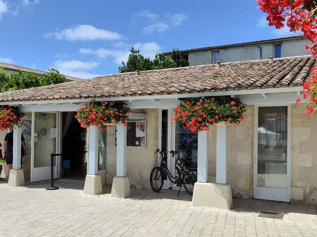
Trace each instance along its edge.
<instances>
[{"instance_id":1,"label":"pale stone wall section right of the closed glass door","mask_svg":"<svg viewBox=\"0 0 317 237\"><path fill-rule=\"evenodd\" d=\"M292 200L317 204L317 117L307 117L305 104L292 106Z\"/></svg>"}]
</instances>

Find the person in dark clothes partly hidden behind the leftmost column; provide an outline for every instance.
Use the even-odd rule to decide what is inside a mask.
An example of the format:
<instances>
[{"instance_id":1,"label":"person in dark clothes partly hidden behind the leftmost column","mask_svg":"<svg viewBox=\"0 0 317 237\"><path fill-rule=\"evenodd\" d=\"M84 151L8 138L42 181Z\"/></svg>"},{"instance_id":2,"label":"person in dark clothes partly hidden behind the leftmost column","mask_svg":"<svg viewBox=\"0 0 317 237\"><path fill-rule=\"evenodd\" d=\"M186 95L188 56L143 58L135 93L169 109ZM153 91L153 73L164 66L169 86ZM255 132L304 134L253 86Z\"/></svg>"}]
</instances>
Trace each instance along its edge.
<instances>
[{"instance_id":1,"label":"person in dark clothes partly hidden behind the leftmost column","mask_svg":"<svg viewBox=\"0 0 317 237\"><path fill-rule=\"evenodd\" d=\"M5 135L4 138L4 159L6 161L6 164L8 165L8 172L10 174L10 170L12 169L12 162L13 162L13 130L10 129L10 132L8 132ZM22 165L22 158L23 156L26 156L26 144L25 139L23 135L21 134L21 165Z\"/></svg>"}]
</instances>

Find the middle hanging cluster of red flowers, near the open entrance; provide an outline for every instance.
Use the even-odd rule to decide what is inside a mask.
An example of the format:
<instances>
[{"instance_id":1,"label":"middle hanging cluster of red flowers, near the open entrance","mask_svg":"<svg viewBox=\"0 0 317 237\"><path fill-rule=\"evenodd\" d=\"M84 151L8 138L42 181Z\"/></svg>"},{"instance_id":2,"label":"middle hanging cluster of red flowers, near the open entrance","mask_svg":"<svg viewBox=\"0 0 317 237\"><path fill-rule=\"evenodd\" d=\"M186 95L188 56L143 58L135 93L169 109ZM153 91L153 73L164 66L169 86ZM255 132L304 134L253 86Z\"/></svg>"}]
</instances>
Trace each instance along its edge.
<instances>
[{"instance_id":1,"label":"middle hanging cluster of red flowers, near the open entrance","mask_svg":"<svg viewBox=\"0 0 317 237\"><path fill-rule=\"evenodd\" d=\"M75 118L81 127L98 126L106 130L107 125L124 123L126 125L130 110L122 105L107 101L92 101L84 104L84 108L77 110Z\"/></svg>"}]
</instances>

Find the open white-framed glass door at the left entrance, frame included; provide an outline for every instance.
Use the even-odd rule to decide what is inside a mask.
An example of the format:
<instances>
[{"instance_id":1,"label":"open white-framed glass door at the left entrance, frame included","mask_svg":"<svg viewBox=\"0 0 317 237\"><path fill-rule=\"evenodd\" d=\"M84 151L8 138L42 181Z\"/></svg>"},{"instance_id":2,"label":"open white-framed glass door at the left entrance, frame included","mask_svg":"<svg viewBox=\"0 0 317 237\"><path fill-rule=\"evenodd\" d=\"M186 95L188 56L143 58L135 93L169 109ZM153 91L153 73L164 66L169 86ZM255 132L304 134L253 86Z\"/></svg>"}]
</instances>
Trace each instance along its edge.
<instances>
[{"instance_id":1,"label":"open white-framed glass door at the left entrance, frame included","mask_svg":"<svg viewBox=\"0 0 317 237\"><path fill-rule=\"evenodd\" d=\"M35 112L32 114L31 182L51 178L51 153L57 150L57 113ZM54 161L54 178L57 178L59 158Z\"/></svg>"}]
</instances>

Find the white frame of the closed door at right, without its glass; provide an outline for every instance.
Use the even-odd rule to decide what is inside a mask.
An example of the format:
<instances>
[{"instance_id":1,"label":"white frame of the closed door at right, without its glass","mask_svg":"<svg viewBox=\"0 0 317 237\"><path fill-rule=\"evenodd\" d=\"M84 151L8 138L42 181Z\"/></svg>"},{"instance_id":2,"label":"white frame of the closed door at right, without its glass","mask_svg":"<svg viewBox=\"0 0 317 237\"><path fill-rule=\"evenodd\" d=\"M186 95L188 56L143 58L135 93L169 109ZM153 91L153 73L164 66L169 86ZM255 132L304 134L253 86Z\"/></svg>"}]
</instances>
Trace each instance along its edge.
<instances>
[{"instance_id":1,"label":"white frame of the closed door at right, without its glass","mask_svg":"<svg viewBox=\"0 0 317 237\"><path fill-rule=\"evenodd\" d=\"M259 107L287 106L287 188L265 188L258 187L258 122ZM287 201L291 199L291 158L292 158L292 105L291 104L269 104L255 105L254 109L254 159L253 159L253 189L254 198Z\"/></svg>"}]
</instances>

